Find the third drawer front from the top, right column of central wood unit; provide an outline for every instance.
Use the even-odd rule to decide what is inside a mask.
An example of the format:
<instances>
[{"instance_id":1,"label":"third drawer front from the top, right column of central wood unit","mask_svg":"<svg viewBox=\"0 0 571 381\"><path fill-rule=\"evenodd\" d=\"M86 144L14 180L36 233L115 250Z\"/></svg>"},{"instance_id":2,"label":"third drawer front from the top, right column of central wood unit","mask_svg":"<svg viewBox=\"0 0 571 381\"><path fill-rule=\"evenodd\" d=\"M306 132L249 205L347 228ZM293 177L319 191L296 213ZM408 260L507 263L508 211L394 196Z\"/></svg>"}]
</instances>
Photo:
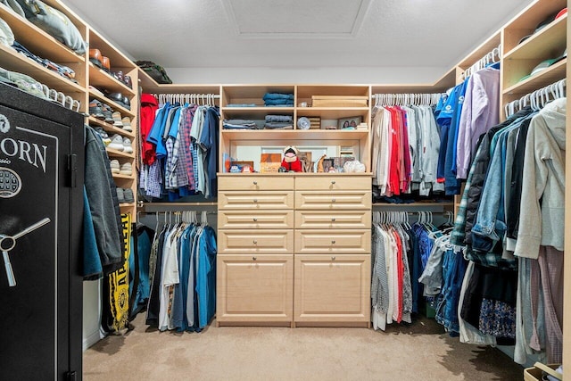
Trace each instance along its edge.
<instances>
[{"instance_id":1,"label":"third drawer front from the top, right column of central wood unit","mask_svg":"<svg viewBox=\"0 0 571 381\"><path fill-rule=\"evenodd\" d=\"M371 211L295 211L295 228L370 228Z\"/></svg>"}]
</instances>

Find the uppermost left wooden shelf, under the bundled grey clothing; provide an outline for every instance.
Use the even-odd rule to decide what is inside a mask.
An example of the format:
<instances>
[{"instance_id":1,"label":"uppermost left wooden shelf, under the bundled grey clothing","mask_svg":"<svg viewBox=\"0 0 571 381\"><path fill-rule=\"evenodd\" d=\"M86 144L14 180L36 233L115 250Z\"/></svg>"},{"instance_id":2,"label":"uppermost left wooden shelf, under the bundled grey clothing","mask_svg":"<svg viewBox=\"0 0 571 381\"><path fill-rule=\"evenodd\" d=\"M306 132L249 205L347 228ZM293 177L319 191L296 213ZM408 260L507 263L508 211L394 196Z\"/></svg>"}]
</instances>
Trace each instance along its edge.
<instances>
[{"instance_id":1,"label":"uppermost left wooden shelf, under the bundled grey clothing","mask_svg":"<svg viewBox=\"0 0 571 381\"><path fill-rule=\"evenodd\" d=\"M7 9L2 3L0 3L0 18L10 25L15 39L33 54L66 66L86 61L85 56L76 54L44 30ZM75 70L75 68L72 69Z\"/></svg>"}]
</instances>

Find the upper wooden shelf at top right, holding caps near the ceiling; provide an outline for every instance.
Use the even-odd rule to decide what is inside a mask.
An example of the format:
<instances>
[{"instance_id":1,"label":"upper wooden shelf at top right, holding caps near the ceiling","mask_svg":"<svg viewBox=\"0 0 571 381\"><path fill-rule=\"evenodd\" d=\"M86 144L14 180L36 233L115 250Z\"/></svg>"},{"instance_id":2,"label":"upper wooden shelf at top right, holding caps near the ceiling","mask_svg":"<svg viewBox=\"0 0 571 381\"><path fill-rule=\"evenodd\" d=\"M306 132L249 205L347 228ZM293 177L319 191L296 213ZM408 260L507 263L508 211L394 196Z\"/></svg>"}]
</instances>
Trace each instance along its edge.
<instances>
[{"instance_id":1,"label":"upper wooden shelf at top right, holding caps near the ceiling","mask_svg":"<svg viewBox=\"0 0 571 381\"><path fill-rule=\"evenodd\" d=\"M504 55L510 60L556 58L567 47L567 15L560 17Z\"/></svg>"}]
</instances>

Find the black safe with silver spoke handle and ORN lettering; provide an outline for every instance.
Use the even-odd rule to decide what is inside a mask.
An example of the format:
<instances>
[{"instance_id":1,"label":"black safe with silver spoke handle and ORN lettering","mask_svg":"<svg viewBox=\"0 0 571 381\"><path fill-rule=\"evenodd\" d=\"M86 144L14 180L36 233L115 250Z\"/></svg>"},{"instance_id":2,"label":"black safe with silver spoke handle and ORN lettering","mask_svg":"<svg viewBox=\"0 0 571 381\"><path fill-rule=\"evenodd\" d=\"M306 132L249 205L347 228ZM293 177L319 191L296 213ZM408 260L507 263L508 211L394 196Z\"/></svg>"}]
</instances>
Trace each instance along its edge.
<instances>
[{"instance_id":1,"label":"black safe with silver spoke handle and ORN lettering","mask_svg":"<svg viewBox=\"0 0 571 381\"><path fill-rule=\"evenodd\" d=\"M84 116L0 83L0 379L80 379Z\"/></svg>"}]
</instances>

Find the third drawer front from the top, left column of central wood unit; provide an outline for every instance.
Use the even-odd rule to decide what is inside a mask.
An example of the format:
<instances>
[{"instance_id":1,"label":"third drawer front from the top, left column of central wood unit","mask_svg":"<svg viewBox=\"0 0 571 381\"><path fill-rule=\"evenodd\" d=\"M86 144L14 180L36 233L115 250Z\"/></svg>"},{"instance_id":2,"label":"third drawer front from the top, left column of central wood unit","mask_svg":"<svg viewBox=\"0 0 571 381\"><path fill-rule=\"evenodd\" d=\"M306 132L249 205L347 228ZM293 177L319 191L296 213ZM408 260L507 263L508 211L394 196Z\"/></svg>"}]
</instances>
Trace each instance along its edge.
<instances>
[{"instance_id":1,"label":"third drawer front from the top, left column of central wood unit","mask_svg":"<svg viewBox=\"0 0 571 381\"><path fill-rule=\"evenodd\" d=\"M294 211L220 211L218 228L294 228Z\"/></svg>"}]
</instances>

